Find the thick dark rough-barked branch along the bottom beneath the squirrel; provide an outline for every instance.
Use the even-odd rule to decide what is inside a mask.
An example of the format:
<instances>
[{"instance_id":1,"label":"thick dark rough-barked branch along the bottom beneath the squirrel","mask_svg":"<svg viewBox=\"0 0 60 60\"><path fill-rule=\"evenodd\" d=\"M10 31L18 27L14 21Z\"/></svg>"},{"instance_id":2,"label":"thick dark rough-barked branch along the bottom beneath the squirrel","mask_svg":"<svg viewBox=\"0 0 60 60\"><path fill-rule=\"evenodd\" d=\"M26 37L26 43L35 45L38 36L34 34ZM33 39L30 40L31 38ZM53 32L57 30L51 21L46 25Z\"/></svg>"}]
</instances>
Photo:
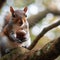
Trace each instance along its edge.
<instances>
[{"instance_id":1,"label":"thick dark rough-barked branch along the bottom beneath the squirrel","mask_svg":"<svg viewBox=\"0 0 60 60\"><path fill-rule=\"evenodd\" d=\"M54 60L59 55L60 37L47 43L42 49L37 51L16 48L0 60Z\"/></svg>"}]
</instances>

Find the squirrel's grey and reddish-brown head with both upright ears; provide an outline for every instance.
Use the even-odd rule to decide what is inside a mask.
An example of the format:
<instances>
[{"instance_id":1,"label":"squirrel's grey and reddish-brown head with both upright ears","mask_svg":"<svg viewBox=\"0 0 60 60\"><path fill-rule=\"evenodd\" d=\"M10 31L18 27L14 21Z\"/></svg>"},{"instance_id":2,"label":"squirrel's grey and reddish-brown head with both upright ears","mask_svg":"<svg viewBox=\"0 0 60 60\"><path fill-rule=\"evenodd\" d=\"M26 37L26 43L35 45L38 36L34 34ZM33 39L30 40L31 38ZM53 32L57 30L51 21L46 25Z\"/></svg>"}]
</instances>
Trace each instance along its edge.
<instances>
[{"instance_id":1,"label":"squirrel's grey and reddish-brown head with both upright ears","mask_svg":"<svg viewBox=\"0 0 60 60\"><path fill-rule=\"evenodd\" d=\"M10 12L12 14L12 20L19 24L20 26L26 22L26 12L27 12L27 7L25 7L23 10L14 10L13 7L10 7Z\"/></svg>"}]
</instances>

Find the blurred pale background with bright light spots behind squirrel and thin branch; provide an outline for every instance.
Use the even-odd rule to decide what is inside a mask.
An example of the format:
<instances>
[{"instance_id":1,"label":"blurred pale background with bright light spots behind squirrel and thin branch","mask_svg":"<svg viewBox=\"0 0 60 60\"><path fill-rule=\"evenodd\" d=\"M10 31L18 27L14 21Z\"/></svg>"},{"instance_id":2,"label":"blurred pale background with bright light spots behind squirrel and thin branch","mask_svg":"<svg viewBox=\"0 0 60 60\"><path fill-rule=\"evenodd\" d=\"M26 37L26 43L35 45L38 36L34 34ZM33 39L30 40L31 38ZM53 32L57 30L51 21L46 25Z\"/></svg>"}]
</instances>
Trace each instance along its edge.
<instances>
[{"instance_id":1,"label":"blurred pale background with bright light spots behind squirrel and thin branch","mask_svg":"<svg viewBox=\"0 0 60 60\"><path fill-rule=\"evenodd\" d=\"M27 20L30 25L30 36L33 41L44 27L60 20L60 0L0 0L0 30L4 17L9 13L10 6L14 9L28 7ZM60 36L60 26L47 32L34 49L42 48L46 43ZM40 48L39 48L40 47ZM58 57L56 60L60 60Z\"/></svg>"}]
</instances>

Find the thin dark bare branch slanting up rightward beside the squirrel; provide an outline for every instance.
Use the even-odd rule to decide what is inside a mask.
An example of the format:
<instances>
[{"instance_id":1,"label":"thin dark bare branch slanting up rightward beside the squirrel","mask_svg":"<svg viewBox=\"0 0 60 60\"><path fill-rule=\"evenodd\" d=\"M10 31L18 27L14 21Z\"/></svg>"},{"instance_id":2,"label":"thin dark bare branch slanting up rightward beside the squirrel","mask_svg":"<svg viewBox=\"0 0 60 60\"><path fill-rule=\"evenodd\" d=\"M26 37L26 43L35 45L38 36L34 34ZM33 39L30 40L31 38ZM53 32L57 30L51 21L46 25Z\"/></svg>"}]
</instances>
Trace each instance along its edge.
<instances>
[{"instance_id":1,"label":"thin dark bare branch slanting up rightward beside the squirrel","mask_svg":"<svg viewBox=\"0 0 60 60\"><path fill-rule=\"evenodd\" d=\"M45 27L42 32L34 39L34 41L32 42L32 44L30 45L30 47L28 47L29 50L31 50L32 48L34 48L34 46L37 44L37 42L39 41L39 39L49 30L57 27L58 25L60 25L60 20L48 27Z\"/></svg>"}]
</instances>

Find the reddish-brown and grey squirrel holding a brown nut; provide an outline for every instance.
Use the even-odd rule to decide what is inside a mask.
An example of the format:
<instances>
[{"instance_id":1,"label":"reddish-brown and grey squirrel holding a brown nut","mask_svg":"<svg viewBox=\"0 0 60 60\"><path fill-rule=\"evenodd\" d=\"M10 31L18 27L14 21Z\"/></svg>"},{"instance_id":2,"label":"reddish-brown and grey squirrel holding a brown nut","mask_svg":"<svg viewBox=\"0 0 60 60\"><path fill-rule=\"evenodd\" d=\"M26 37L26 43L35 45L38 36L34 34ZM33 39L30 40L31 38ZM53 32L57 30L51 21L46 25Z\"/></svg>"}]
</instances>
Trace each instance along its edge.
<instances>
[{"instance_id":1,"label":"reddish-brown and grey squirrel holding a brown nut","mask_svg":"<svg viewBox=\"0 0 60 60\"><path fill-rule=\"evenodd\" d=\"M5 22L0 35L2 53L5 52L5 49L7 49L6 52L9 52L9 49L17 46L28 48L31 44L29 24L26 19L27 7L23 10L14 10L13 7L10 7L10 12L10 19L8 22L6 21L7 23Z\"/></svg>"}]
</instances>

